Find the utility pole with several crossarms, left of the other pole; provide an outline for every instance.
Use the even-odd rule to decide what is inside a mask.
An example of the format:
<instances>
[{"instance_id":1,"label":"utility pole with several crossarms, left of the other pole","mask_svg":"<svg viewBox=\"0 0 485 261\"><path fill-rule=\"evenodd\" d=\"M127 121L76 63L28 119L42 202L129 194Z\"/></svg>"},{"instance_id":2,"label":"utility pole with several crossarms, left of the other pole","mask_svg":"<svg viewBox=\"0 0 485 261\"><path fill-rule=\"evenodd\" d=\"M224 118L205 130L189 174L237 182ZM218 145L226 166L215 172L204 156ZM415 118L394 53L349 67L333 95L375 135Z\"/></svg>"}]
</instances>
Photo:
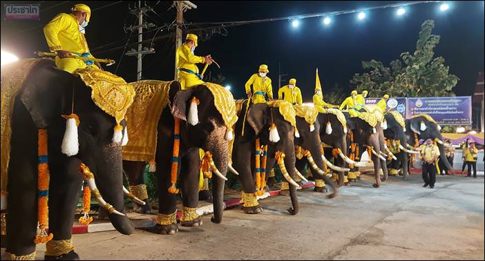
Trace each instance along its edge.
<instances>
[{"instance_id":1,"label":"utility pole with several crossarms, left of the other pole","mask_svg":"<svg viewBox=\"0 0 485 261\"><path fill-rule=\"evenodd\" d=\"M149 55L149 54L155 53L155 49L153 49L153 48L149 49L147 47L143 48L143 44L142 44L143 28L148 29L148 28L155 27L155 25L153 23L144 23L143 22L143 14L145 12L152 11L152 10L153 9L151 8L151 6L146 6L146 3L142 7L142 1L138 1L138 7L137 8L131 9L129 7L130 14L136 14L137 15L138 25L137 26L129 26L129 27L124 28L125 32L126 32L126 30L133 31L135 29L138 29L138 50L131 49L131 50L129 50L129 52L126 52L126 55L128 55L128 56L136 55L136 57L137 57L137 66L136 66L136 68L137 68L136 69L137 70L136 80L137 81L140 81L142 79L142 57L143 57L143 55Z\"/></svg>"}]
</instances>

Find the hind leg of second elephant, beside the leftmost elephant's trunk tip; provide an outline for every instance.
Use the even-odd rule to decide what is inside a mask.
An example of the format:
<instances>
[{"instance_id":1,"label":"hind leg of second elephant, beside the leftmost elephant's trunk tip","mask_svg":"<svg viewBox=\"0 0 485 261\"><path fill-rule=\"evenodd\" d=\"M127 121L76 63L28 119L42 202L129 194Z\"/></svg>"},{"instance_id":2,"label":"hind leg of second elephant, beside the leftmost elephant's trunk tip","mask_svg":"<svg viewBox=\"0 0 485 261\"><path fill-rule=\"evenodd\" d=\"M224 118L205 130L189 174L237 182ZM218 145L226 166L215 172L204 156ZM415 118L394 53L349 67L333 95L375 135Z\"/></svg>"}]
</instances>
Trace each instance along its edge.
<instances>
[{"instance_id":1,"label":"hind leg of second elephant, beside the leftmost elephant's trunk tip","mask_svg":"<svg viewBox=\"0 0 485 261\"><path fill-rule=\"evenodd\" d=\"M146 191L146 184L144 184L143 180L144 168L144 162L123 161L123 171L126 173L130 184L129 191L135 197L145 202L144 205L133 202L133 211L136 213L151 214L151 204L148 202L148 192Z\"/></svg>"}]
</instances>

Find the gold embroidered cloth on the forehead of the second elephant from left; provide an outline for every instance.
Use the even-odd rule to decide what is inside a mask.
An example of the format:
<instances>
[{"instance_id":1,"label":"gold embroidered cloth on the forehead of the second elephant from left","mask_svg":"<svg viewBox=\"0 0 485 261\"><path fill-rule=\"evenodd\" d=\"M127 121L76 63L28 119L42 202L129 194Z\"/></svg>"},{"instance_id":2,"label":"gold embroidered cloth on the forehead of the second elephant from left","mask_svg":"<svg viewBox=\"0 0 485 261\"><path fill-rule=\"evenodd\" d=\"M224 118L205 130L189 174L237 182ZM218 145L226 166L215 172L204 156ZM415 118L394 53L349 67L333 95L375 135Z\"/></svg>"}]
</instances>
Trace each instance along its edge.
<instances>
[{"instance_id":1,"label":"gold embroidered cloth on the forehead of the second elephant from left","mask_svg":"<svg viewBox=\"0 0 485 261\"><path fill-rule=\"evenodd\" d=\"M222 115L222 119L227 128L232 128L238 121L238 116L236 115L236 103L234 102L232 93L219 84L206 82L204 85L211 91L214 97L214 105L220 115Z\"/></svg>"}]
</instances>

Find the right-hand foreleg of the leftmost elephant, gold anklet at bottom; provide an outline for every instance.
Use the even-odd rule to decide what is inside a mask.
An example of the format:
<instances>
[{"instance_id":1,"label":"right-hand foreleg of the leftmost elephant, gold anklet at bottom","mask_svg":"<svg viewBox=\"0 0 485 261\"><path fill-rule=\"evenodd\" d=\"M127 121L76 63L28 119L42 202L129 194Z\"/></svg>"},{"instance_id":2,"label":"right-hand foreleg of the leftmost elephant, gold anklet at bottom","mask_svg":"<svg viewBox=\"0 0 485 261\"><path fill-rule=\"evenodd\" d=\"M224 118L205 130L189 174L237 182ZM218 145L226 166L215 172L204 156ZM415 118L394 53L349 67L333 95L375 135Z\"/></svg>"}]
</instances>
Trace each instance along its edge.
<instances>
[{"instance_id":1,"label":"right-hand foreleg of the leftmost elephant, gold anklet at bottom","mask_svg":"<svg viewBox=\"0 0 485 261\"><path fill-rule=\"evenodd\" d=\"M46 260L79 259L70 241L78 192L82 186L79 164L81 161L72 157L64 166L50 166L49 232L54 234L54 238L46 244Z\"/></svg>"}]
</instances>

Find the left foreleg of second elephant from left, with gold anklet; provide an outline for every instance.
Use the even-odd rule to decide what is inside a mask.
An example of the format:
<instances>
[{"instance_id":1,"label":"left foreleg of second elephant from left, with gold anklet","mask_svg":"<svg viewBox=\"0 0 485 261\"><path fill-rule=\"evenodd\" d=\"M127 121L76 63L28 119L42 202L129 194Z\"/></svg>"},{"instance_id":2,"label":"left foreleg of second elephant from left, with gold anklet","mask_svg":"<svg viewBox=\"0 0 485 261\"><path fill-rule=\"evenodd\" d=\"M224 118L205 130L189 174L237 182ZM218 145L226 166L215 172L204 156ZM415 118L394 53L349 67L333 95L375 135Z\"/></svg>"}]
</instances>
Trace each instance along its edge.
<instances>
[{"instance_id":1,"label":"left foreleg of second elephant from left, with gold anklet","mask_svg":"<svg viewBox=\"0 0 485 261\"><path fill-rule=\"evenodd\" d=\"M158 220L155 225L155 232L162 235L174 235L178 233L178 226L176 218L177 195L169 193L172 161L170 157L157 157L156 161L157 171L155 171L155 176L158 181ZM180 169L180 164L178 167Z\"/></svg>"}]
</instances>

